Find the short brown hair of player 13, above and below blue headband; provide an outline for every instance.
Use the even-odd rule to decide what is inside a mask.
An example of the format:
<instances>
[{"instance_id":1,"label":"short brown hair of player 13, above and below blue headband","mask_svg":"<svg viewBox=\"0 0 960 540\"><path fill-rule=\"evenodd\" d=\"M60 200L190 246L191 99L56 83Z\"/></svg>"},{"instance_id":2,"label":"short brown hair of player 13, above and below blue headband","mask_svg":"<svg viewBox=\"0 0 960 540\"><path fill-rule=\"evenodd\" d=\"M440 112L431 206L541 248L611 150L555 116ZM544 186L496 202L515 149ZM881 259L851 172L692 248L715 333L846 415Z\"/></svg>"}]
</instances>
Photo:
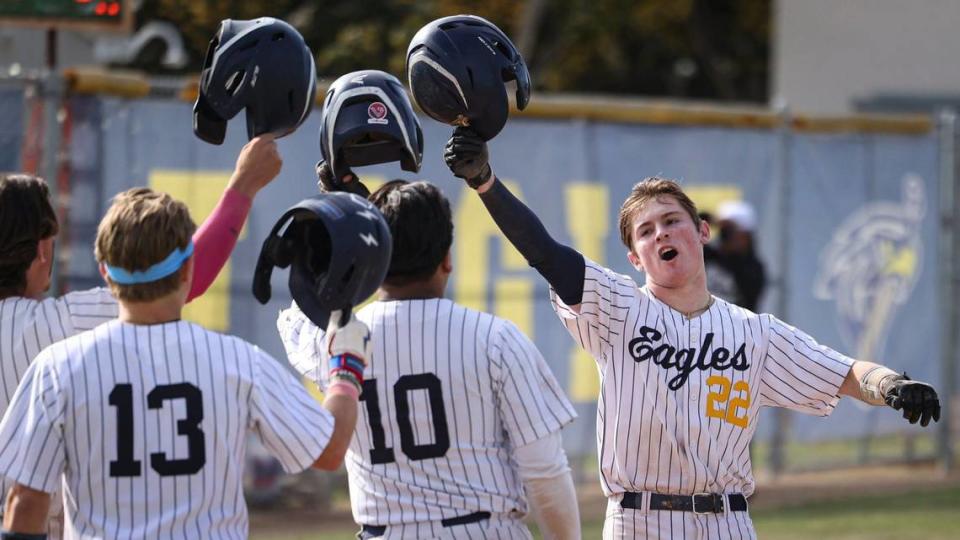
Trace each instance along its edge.
<instances>
[{"instance_id":1,"label":"short brown hair of player 13, above and below blue headband","mask_svg":"<svg viewBox=\"0 0 960 540\"><path fill-rule=\"evenodd\" d=\"M97 262L128 272L146 270L186 248L196 228L187 206L170 195L149 188L124 191L97 227ZM107 283L119 300L150 302L177 290L182 271L150 283L120 285L109 278Z\"/></svg>"}]
</instances>

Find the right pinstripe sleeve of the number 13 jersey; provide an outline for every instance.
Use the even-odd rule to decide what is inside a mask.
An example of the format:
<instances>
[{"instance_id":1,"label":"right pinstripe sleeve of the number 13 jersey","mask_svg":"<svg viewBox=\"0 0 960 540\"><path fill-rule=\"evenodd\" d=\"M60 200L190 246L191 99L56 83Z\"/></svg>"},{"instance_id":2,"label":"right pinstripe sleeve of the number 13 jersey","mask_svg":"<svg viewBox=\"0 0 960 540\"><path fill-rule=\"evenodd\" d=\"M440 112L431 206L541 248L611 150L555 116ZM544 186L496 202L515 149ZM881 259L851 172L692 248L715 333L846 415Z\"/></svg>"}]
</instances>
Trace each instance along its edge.
<instances>
[{"instance_id":1,"label":"right pinstripe sleeve of the number 13 jersey","mask_svg":"<svg viewBox=\"0 0 960 540\"><path fill-rule=\"evenodd\" d=\"M333 434L333 416L279 361L257 349L251 428L288 473L320 457Z\"/></svg>"}]
</instances>

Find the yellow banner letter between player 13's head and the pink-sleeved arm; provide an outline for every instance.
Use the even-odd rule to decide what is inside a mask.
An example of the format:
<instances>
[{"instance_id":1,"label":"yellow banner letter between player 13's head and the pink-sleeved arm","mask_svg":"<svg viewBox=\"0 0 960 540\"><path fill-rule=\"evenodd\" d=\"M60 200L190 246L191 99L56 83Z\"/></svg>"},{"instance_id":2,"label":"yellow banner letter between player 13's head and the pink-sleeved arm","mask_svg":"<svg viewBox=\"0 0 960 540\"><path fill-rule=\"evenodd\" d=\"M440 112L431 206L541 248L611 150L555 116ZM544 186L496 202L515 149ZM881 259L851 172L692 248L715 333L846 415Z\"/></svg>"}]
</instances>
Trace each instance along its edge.
<instances>
[{"instance_id":1,"label":"yellow banner letter between player 13's head and the pink-sleeved arm","mask_svg":"<svg viewBox=\"0 0 960 540\"><path fill-rule=\"evenodd\" d=\"M190 216L199 226L217 206L217 201L230 181L230 174L225 171L154 170L150 172L150 187L183 201L190 209ZM244 224L240 238L244 238L246 233L247 227ZM220 332L230 329L231 270L228 259L207 292L184 308L184 319Z\"/></svg>"}]
</instances>

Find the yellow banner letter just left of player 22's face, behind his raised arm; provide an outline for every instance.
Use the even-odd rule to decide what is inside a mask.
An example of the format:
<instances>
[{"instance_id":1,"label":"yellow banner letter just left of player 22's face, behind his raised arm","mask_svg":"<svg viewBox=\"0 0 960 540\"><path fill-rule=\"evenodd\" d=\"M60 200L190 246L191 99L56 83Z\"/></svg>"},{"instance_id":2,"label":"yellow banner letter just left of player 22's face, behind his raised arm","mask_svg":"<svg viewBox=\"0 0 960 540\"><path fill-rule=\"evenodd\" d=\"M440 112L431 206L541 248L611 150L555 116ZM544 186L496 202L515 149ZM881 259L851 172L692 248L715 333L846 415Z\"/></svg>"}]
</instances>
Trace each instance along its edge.
<instances>
[{"instance_id":1,"label":"yellow banner letter just left of player 22's face, behind his raised arm","mask_svg":"<svg viewBox=\"0 0 960 540\"><path fill-rule=\"evenodd\" d=\"M585 257L604 264L604 243L610 230L607 186L574 182L567 185L565 195L567 225L574 247ZM570 354L568 387L573 401L595 401L600 394L597 362L580 347L574 347Z\"/></svg>"}]
</instances>

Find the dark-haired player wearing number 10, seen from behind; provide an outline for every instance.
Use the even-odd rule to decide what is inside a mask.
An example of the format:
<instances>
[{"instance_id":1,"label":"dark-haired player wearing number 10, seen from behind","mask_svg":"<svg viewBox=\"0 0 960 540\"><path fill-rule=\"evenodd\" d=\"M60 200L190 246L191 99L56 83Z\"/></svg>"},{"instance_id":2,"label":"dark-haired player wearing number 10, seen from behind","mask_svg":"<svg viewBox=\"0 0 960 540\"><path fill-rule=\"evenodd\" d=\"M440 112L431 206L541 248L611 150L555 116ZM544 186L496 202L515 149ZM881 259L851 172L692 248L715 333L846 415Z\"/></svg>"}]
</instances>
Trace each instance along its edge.
<instances>
[{"instance_id":1,"label":"dark-haired player wearing number 10, seen from behind","mask_svg":"<svg viewBox=\"0 0 960 540\"><path fill-rule=\"evenodd\" d=\"M330 174L321 166L327 189L341 188ZM350 189L368 193L360 182ZM390 225L393 254L378 301L357 313L377 358L346 459L358 537L531 538L520 521L529 500L547 538L579 538L560 436L575 412L515 325L443 297L448 201L403 180L370 200ZM277 326L294 367L329 384L324 332L296 303Z\"/></svg>"}]
</instances>

